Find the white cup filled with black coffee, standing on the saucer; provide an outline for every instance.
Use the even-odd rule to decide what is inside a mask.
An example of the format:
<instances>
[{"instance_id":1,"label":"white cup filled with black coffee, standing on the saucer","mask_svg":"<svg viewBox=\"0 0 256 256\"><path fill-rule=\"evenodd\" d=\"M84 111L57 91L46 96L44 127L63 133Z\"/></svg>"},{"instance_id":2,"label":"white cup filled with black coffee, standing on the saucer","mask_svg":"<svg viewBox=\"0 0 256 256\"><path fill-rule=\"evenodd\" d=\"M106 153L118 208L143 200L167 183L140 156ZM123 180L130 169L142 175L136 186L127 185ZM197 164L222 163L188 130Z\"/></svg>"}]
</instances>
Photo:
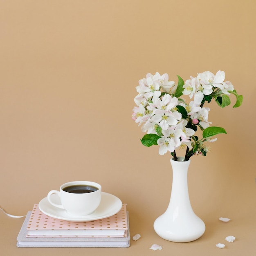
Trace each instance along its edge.
<instances>
[{"instance_id":1,"label":"white cup filled with black coffee, standing on the saucer","mask_svg":"<svg viewBox=\"0 0 256 256\"><path fill-rule=\"evenodd\" d=\"M89 191L87 192L86 189ZM51 195L58 194L61 204L52 202ZM91 181L72 181L51 190L47 195L50 204L65 209L72 216L86 216L93 213L101 202L101 185Z\"/></svg>"}]
</instances>

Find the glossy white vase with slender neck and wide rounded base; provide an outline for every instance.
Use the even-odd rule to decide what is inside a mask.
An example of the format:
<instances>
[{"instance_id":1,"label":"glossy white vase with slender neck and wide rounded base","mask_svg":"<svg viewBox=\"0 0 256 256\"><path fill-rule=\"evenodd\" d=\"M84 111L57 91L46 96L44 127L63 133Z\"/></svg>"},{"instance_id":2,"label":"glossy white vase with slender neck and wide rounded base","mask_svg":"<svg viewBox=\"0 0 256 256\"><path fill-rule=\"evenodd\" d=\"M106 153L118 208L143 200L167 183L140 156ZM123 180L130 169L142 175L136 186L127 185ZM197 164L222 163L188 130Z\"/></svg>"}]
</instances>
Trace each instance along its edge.
<instances>
[{"instance_id":1,"label":"glossy white vase with slender neck and wide rounded base","mask_svg":"<svg viewBox=\"0 0 256 256\"><path fill-rule=\"evenodd\" d=\"M204 234L204 222L195 215L189 200L187 173L190 160L171 159L173 184L167 210L154 222L155 232L172 242L191 242Z\"/></svg>"}]
</instances>

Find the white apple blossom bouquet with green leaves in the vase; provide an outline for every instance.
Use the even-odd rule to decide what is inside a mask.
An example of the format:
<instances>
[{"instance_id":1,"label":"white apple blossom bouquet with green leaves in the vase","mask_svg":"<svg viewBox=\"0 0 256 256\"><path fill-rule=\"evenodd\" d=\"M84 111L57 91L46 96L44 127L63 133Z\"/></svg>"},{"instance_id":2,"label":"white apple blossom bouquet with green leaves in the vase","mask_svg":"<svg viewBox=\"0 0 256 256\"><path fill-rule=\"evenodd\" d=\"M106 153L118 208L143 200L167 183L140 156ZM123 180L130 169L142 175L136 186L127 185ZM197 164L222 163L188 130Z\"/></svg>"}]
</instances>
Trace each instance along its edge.
<instances>
[{"instance_id":1,"label":"white apple blossom bouquet with green leaves in the vase","mask_svg":"<svg viewBox=\"0 0 256 256\"><path fill-rule=\"evenodd\" d=\"M237 94L231 82L224 82L224 71L219 70L216 75L206 71L185 82L177 77L177 84L168 81L168 74L158 72L155 75L148 73L146 78L139 80L132 119L147 132L141 139L144 146L159 145L159 154L169 151L175 161L175 150L186 148L184 161L187 161L193 155L205 156L209 151L207 142L216 141L214 135L227 133L224 128L210 126L210 108L205 104L214 100L224 108L231 103L230 94L234 94L236 103L233 108L237 108L242 104L243 96ZM183 95L190 101L187 102ZM195 135L198 128L202 131L200 138Z\"/></svg>"}]
</instances>

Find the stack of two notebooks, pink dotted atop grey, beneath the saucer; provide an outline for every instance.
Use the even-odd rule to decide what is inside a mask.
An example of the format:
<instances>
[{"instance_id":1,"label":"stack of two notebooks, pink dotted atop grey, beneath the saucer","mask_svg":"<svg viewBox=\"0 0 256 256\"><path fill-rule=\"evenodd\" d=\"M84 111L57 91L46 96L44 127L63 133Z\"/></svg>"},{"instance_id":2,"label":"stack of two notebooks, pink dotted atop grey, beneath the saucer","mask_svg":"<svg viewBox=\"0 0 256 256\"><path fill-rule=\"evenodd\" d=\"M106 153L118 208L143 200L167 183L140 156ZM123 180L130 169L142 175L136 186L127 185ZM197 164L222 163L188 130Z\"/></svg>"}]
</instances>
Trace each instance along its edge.
<instances>
[{"instance_id":1,"label":"stack of two notebooks, pink dotted atop grey, beneath the saucer","mask_svg":"<svg viewBox=\"0 0 256 256\"><path fill-rule=\"evenodd\" d=\"M38 204L27 213L18 234L18 247L129 247L126 204L113 216L90 222L52 218Z\"/></svg>"}]
</instances>

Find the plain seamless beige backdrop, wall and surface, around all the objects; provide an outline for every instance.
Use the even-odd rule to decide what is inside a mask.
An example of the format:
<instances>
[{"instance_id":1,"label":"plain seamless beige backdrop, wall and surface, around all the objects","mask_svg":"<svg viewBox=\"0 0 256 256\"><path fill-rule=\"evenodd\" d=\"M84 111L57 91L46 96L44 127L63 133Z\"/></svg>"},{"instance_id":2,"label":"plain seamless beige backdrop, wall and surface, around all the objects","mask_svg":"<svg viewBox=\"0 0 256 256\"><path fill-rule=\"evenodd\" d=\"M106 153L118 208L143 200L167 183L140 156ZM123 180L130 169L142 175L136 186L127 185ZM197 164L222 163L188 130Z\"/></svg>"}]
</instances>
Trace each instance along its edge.
<instances>
[{"instance_id":1,"label":"plain seamless beige backdrop, wall and surface, around all the objects","mask_svg":"<svg viewBox=\"0 0 256 256\"><path fill-rule=\"evenodd\" d=\"M0 212L2 255L255 255L255 11L255 0L1 0L0 205L24 215L62 183L94 180L128 204L131 236L141 234L128 249L20 249L23 219ZM153 230L170 198L170 155L140 143L135 87L148 72L177 82L207 70L224 70L244 102L209 106L227 135L191 159L206 232L172 243Z\"/></svg>"}]
</instances>

